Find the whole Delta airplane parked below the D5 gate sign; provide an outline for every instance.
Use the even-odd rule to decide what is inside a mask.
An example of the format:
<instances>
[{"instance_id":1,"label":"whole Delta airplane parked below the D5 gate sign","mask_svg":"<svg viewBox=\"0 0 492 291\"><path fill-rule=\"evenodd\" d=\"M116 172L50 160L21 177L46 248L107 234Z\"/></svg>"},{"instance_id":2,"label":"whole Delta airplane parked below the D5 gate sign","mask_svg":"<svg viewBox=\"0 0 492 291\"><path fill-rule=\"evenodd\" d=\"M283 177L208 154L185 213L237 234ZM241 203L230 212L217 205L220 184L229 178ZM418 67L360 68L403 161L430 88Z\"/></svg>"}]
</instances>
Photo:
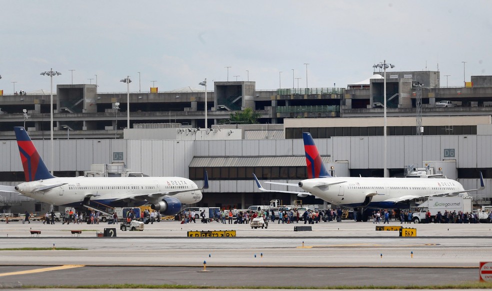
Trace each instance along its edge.
<instances>
[{"instance_id":1,"label":"whole Delta airplane parked below the D5 gate sign","mask_svg":"<svg viewBox=\"0 0 492 291\"><path fill-rule=\"evenodd\" d=\"M14 127L25 182L0 186L0 192L17 192L36 200L62 206L124 207L150 204L163 215L174 215L182 204L199 202L208 188L204 173L202 188L181 177L75 177L52 176L23 127Z\"/></svg>"}]
</instances>

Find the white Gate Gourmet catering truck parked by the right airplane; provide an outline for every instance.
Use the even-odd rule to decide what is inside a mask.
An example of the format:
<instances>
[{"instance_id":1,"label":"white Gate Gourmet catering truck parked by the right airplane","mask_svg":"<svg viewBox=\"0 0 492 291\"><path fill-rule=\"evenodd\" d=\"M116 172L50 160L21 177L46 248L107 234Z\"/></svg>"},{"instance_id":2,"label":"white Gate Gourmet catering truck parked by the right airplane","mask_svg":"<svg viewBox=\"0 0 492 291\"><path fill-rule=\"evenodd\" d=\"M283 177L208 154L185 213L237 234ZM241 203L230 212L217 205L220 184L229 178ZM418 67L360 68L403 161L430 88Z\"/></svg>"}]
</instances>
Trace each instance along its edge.
<instances>
[{"instance_id":1,"label":"white Gate Gourmet catering truck parked by the right airplane","mask_svg":"<svg viewBox=\"0 0 492 291\"><path fill-rule=\"evenodd\" d=\"M447 212L459 211L463 213L472 212L471 197L429 197L427 201L422 202L417 206L418 212L412 213L413 223L426 223L425 217L427 210L430 211L430 222L434 222L437 213L443 215Z\"/></svg>"}]
</instances>

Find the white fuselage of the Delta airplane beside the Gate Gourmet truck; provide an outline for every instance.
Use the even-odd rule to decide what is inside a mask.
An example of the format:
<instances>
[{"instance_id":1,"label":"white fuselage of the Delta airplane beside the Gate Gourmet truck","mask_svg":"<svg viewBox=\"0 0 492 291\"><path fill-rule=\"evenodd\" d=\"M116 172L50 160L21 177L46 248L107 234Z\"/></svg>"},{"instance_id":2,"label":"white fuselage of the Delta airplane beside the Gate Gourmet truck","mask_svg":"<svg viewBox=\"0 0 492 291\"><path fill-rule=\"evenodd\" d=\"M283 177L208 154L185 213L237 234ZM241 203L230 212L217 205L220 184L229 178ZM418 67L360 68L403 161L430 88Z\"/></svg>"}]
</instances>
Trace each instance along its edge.
<instances>
[{"instance_id":1,"label":"white fuselage of the Delta airplane beside the Gate Gourmet truck","mask_svg":"<svg viewBox=\"0 0 492 291\"><path fill-rule=\"evenodd\" d=\"M337 182L343 183L334 184ZM325 183L334 185L319 186ZM443 178L329 177L306 179L299 184L304 191L327 202L350 208L407 208L408 204L391 200L407 195L426 197L464 191L460 183Z\"/></svg>"}]
</instances>

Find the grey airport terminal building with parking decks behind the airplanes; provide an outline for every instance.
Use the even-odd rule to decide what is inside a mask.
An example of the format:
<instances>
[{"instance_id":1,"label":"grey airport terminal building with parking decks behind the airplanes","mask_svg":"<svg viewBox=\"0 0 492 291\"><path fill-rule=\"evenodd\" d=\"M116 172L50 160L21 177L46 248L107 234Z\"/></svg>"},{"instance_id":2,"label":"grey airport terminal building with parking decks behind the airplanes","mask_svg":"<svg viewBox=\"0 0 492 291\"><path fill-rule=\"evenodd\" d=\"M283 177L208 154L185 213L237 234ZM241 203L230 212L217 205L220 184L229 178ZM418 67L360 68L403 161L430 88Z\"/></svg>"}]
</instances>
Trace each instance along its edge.
<instances>
[{"instance_id":1,"label":"grey airport terminal building with parking decks behind the airplanes","mask_svg":"<svg viewBox=\"0 0 492 291\"><path fill-rule=\"evenodd\" d=\"M381 74L346 88L257 90L254 82L214 82L213 91L207 92L208 129L204 128L204 90L151 88L127 95L97 93L90 84L60 84L53 92L54 165L49 163L50 95L3 95L0 184L23 181L12 129L25 123L55 176L83 175L92 164L122 163L132 172L187 177L200 185L207 170L210 187L200 206L246 208L272 199L290 204L299 198L258 191L252 173L262 181L305 179L302 132L311 133L332 175L383 176ZM435 107L442 100L456 106ZM492 76L471 76L471 82L450 88L440 86L437 71L387 72L388 176L428 166L465 189L475 189L481 171L485 189L470 194L475 204L490 204L490 102ZM244 108L259 113L260 123L230 121L231 114ZM36 212L49 208L20 199L27 201L2 194L0 208L28 207ZM302 200L322 204L313 198Z\"/></svg>"}]
</instances>

